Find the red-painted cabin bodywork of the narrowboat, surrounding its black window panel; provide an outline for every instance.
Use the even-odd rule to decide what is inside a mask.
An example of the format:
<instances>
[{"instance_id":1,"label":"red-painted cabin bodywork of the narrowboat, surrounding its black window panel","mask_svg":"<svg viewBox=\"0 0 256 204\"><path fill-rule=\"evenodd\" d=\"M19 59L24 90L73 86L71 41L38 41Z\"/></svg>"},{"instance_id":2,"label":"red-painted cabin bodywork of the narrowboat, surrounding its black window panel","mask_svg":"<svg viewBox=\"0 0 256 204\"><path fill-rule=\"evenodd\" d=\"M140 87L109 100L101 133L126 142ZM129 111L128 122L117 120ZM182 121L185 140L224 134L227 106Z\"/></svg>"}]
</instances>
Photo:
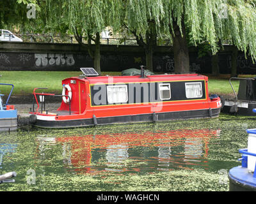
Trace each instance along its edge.
<instances>
[{"instance_id":1,"label":"red-painted cabin bodywork of the narrowboat, surrounding its black window panel","mask_svg":"<svg viewBox=\"0 0 256 204\"><path fill-rule=\"evenodd\" d=\"M163 103L136 103L136 104L119 104L119 105L99 105L92 106L92 96L90 86L95 84L129 84L129 83L152 83L152 82L182 82L202 80L205 82L205 98L190 101L166 101ZM86 118L92 118L93 114L96 117L111 117L118 115L132 115L152 112L170 112L182 111L185 109L195 110L201 106L202 102L210 101L208 96L208 77L197 74L188 75L153 75L145 78L140 76L118 76L118 77L71 77L62 81L62 84L70 85L72 89L72 100L70 103L71 112L75 114L85 114ZM65 94L68 94L66 91ZM206 104L206 103L205 103ZM209 108L209 106L207 106ZM69 110L67 103L62 101L61 110ZM63 116L64 117L64 116ZM61 116L58 118L61 119Z\"/></svg>"}]
</instances>

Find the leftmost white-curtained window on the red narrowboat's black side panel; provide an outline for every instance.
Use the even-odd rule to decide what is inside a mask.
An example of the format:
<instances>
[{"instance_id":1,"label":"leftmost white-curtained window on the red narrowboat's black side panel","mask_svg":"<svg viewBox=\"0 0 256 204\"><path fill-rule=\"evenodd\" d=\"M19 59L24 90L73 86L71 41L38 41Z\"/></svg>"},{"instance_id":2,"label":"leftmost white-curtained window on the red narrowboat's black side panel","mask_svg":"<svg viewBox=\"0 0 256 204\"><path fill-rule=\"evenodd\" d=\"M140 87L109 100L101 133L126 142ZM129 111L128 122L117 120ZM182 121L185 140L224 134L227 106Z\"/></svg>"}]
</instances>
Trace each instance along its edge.
<instances>
[{"instance_id":1,"label":"leftmost white-curtained window on the red narrowboat's black side panel","mask_svg":"<svg viewBox=\"0 0 256 204\"><path fill-rule=\"evenodd\" d=\"M125 103L128 101L127 85L109 85L107 92L108 103Z\"/></svg>"}]
</instances>

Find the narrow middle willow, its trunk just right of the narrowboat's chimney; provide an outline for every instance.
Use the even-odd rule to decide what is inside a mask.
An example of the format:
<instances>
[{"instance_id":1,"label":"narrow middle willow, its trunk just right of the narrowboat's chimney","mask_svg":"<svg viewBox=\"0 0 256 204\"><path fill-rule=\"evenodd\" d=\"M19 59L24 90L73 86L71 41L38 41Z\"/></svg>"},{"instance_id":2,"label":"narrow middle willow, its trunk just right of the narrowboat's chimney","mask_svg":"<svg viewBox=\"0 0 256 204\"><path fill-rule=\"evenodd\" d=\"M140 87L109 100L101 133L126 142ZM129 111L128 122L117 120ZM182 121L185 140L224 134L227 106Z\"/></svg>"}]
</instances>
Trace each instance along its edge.
<instances>
[{"instance_id":1,"label":"narrow middle willow, its trunk just right of the narrowboat's chimney","mask_svg":"<svg viewBox=\"0 0 256 204\"><path fill-rule=\"evenodd\" d=\"M123 3L124 15L122 25L134 34L138 45L143 47L146 56L146 66L153 71L153 53L157 46L160 20L163 18L161 0L129 0Z\"/></svg>"}]
</instances>

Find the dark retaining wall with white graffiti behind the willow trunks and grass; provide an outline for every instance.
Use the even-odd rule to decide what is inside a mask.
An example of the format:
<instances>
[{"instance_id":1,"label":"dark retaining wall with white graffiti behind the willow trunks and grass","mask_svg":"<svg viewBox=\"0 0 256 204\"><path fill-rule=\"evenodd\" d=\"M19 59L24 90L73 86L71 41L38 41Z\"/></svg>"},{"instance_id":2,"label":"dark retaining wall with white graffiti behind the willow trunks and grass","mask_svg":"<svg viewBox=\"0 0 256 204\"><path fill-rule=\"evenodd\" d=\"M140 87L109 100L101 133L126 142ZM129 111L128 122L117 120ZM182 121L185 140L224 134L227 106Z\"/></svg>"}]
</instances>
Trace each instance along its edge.
<instances>
[{"instance_id":1,"label":"dark retaining wall with white graffiti behind the willow trunks and grass","mask_svg":"<svg viewBox=\"0 0 256 204\"><path fill-rule=\"evenodd\" d=\"M131 45L101 45L102 71L122 71L145 65L143 48ZM211 57L198 58L198 50L189 48L190 71L211 73ZM172 47L157 47L154 52L154 71L174 70ZM219 55L220 73L230 73L230 47ZM93 67L87 45L65 43L15 43L0 42L0 69L6 71L79 71L81 67ZM256 65L243 53L237 57L239 73L256 73Z\"/></svg>"}]
</instances>

